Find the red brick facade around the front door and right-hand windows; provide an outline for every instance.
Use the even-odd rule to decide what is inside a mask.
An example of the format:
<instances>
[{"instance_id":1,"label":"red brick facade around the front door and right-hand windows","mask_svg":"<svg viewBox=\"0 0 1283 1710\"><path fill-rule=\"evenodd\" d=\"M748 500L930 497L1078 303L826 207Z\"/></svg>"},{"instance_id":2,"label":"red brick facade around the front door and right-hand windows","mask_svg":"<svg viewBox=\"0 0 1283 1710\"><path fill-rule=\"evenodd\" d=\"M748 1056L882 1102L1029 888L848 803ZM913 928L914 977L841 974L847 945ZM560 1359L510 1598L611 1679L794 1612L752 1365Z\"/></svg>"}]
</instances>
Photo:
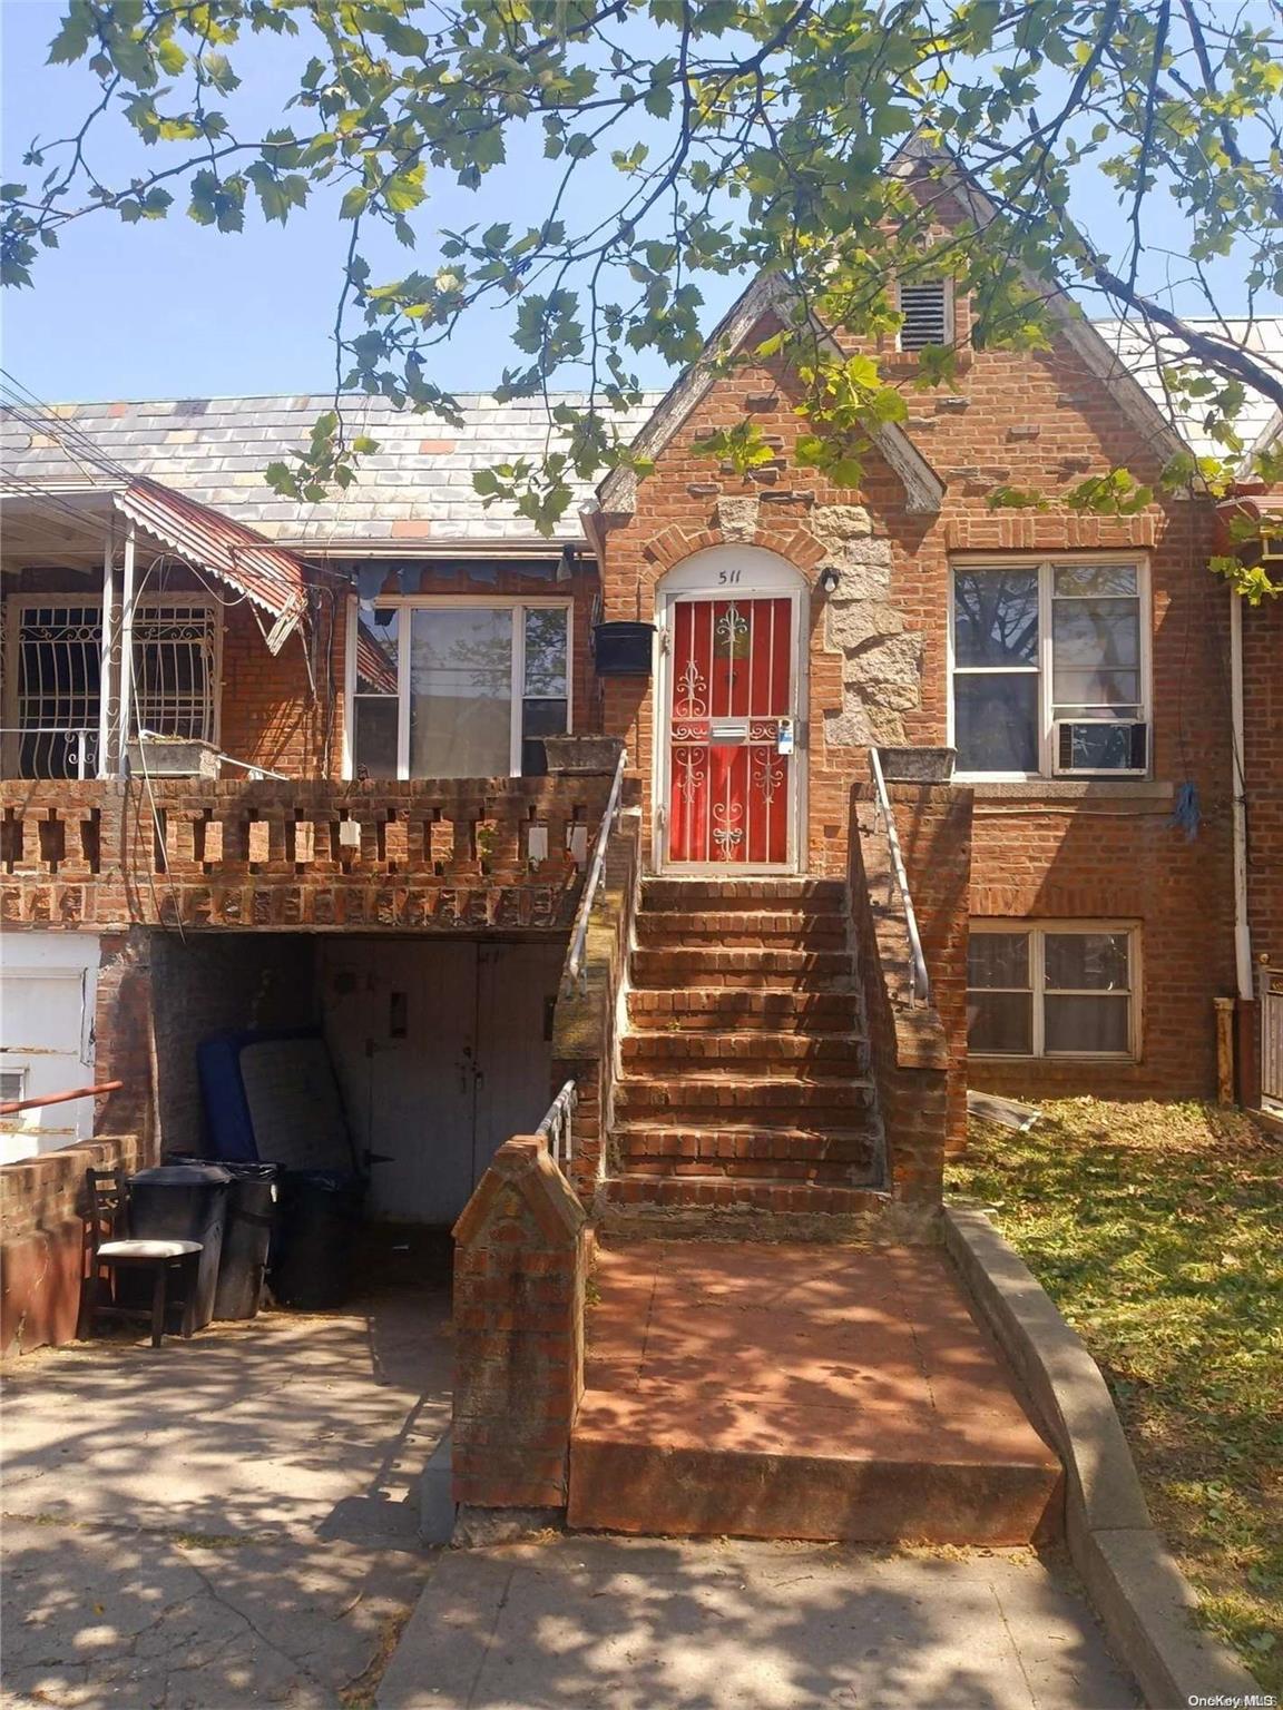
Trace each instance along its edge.
<instances>
[{"instance_id":1,"label":"red brick facade around the front door and right-hand windows","mask_svg":"<svg viewBox=\"0 0 1283 1710\"><path fill-rule=\"evenodd\" d=\"M758 333L768 328L763 323ZM756 337L754 333L753 337ZM652 616L669 564L720 544L720 498L756 496L754 544L802 568L818 563L809 518L816 508L862 504L874 535L891 547L890 602L920 638L919 705L903 706L903 735L943 744L948 732L948 578L951 554L1052 551L1148 554L1153 604L1153 761L1158 790L1138 799L1105 785L1105 800L1071 802L1032 787L1025 799L984 800L975 809L970 908L977 915L1109 915L1144 934L1144 1060L1138 1065L973 1065L979 1084L1038 1094L1055 1088L1100 1096L1196 1096L1215 1091L1211 1000L1233 990L1228 843L1228 655L1223 585L1206 569L1213 549L1211 506L1163 499L1138 516L1093 518L1067 511L994 513L999 484L1055 496L1086 474L1126 462L1139 477L1158 474L1162 453L1126 414L1117 388L1085 371L1066 340L1040 356L975 352L956 393L910 397L908 433L946 482L937 516L913 516L898 477L876 455L864 487L833 489L799 469L790 450L801 424L790 376L749 366L718 380L659 453L638 486L636 511L607 534L607 617L631 617L638 588ZM691 441L746 416L778 441L775 467L741 479L696 457ZM809 698L809 865L845 865L847 795L867 776L864 747L837 746L826 713L842 706L843 658L825 646L823 597L813 592ZM650 805L653 705L648 682L606 684L606 727L624 737ZM881 737L886 740L886 737ZM1182 787L1197 795L1197 836L1168 824ZM1102 817L1109 812L1109 817ZM1264 814L1262 814L1264 817ZM648 846L648 843L647 843Z\"/></svg>"}]
</instances>

